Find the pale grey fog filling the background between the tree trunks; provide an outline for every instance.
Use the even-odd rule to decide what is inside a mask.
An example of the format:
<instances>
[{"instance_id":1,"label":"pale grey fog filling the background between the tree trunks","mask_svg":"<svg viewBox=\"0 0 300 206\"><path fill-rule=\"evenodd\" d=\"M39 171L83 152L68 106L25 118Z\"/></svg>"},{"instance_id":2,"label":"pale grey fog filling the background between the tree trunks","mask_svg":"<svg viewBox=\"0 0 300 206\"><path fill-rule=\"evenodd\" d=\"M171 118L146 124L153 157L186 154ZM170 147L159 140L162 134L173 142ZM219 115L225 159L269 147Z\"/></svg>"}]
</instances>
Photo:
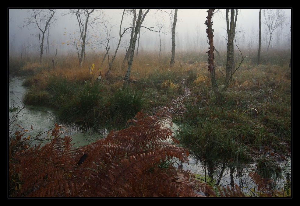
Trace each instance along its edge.
<instances>
[{"instance_id":1,"label":"pale grey fog filling the background between the tree trunks","mask_svg":"<svg viewBox=\"0 0 300 206\"><path fill-rule=\"evenodd\" d=\"M162 52L171 53L171 25L173 17L167 12L174 14L174 9L150 9L143 22L144 27L140 32L139 51L159 52L159 36L161 36ZM264 9L262 9L264 10ZM282 9L286 18L286 24L274 30L270 48L281 49L291 47L291 9ZM25 54L39 55L39 41L34 35L37 29L34 25L22 27L28 17L27 9L9 9L9 34L8 47L9 54L20 55L25 50ZM69 9L56 9L55 23L49 29L50 49L49 55L54 55L56 49L58 55L75 55L76 48L72 44L79 30L75 15L69 13ZM176 51L208 51L206 34L207 9L178 9L176 24ZM87 54L103 54L107 32L110 31L110 42L108 46L114 51L119 39L119 27L122 18L122 9L99 9L99 25L89 26L90 38L89 46L86 48ZM259 33L259 9L238 9L236 26L236 44L240 49L258 50ZM263 24L262 12L262 50L265 50L269 43L267 27ZM225 51L227 47L226 18L225 9L218 9L213 16L214 44L219 51ZM105 26L107 25L107 26ZM125 15L122 23L122 32L132 25L132 13ZM161 33L158 33L157 25L163 25ZM97 41L94 37L97 36ZM130 31L122 38L120 52L124 52L129 44ZM101 44L102 43L102 44Z\"/></svg>"}]
</instances>

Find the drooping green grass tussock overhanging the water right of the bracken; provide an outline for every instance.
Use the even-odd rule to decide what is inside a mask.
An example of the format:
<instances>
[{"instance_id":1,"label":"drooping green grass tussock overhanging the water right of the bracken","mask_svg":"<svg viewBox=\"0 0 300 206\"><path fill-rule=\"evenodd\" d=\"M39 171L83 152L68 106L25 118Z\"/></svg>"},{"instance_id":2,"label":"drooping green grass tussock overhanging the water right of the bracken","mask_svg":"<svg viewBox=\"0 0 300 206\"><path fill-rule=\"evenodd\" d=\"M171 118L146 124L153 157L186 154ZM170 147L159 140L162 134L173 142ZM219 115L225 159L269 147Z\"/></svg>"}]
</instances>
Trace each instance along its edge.
<instances>
[{"instance_id":1,"label":"drooping green grass tussock overhanging the water right of the bracken","mask_svg":"<svg viewBox=\"0 0 300 206\"><path fill-rule=\"evenodd\" d=\"M237 130L233 125L230 128L216 116L207 118L197 115L193 121L181 125L178 138L194 153L205 159L250 159L246 141L241 141L241 138L245 138L245 131Z\"/></svg>"}]
</instances>

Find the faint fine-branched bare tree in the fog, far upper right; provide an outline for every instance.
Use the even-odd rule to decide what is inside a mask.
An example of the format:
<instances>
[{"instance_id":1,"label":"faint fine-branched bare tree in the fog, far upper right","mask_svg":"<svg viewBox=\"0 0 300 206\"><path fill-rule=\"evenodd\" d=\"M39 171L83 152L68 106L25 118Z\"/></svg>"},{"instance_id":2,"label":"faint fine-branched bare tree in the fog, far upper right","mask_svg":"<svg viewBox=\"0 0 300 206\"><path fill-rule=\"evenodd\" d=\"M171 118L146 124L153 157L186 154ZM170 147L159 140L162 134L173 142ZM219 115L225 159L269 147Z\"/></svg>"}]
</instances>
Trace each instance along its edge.
<instances>
[{"instance_id":1,"label":"faint fine-branched bare tree in the fog, far upper right","mask_svg":"<svg viewBox=\"0 0 300 206\"><path fill-rule=\"evenodd\" d=\"M287 26L287 15L282 9L264 9L263 10L263 24L266 25L266 35L269 37L267 51L273 40L274 31L282 26Z\"/></svg>"}]
</instances>

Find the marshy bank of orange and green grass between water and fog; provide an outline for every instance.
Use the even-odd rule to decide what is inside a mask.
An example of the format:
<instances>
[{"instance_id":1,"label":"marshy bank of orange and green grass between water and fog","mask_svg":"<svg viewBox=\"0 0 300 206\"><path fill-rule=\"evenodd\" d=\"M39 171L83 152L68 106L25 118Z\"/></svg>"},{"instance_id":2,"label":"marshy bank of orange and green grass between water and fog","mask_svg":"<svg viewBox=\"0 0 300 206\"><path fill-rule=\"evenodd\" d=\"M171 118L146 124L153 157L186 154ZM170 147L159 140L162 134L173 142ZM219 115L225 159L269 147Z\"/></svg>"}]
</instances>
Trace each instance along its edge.
<instances>
[{"instance_id":1,"label":"marshy bank of orange and green grass between water and fog","mask_svg":"<svg viewBox=\"0 0 300 206\"><path fill-rule=\"evenodd\" d=\"M108 65L101 65L99 57L87 59L81 68L72 57L57 57L55 68L47 59L39 64L10 57L9 72L24 76L24 103L50 107L61 119L122 129L141 110L149 115L165 110L179 125L175 138L202 159L256 162L262 177L285 176L276 162L291 156L290 57L274 51L262 57L260 65L253 57L246 59L226 91L222 59L217 58L217 82L224 95L217 105L207 56L176 55L181 57L170 66L168 55L139 54L125 89L126 65L118 59L109 76L104 75ZM99 71L102 79L96 81Z\"/></svg>"}]
</instances>

